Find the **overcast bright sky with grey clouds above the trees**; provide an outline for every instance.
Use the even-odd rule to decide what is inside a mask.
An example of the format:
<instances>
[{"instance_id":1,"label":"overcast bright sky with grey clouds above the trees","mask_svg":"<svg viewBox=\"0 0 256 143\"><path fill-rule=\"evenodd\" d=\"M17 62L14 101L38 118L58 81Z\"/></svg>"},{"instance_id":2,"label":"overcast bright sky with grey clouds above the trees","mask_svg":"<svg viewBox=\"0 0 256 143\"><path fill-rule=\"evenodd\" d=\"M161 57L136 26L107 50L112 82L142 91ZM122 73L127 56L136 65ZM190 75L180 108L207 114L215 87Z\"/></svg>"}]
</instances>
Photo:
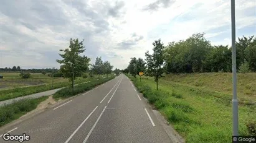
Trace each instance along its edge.
<instances>
[{"instance_id":1,"label":"overcast bright sky with grey clouds above the trees","mask_svg":"<svg viewBox=\"0 0 256 143\"><path fill-rule=\"evenodd\" d=\"M236 34L256 35L256 0L237 0ZM212 45L230 45L230 0L0 0L0 67L57 67L70 38L85 55L114 67L145 58L154 40L167 45L205 32Z\"/></svg>"}]
</instances>

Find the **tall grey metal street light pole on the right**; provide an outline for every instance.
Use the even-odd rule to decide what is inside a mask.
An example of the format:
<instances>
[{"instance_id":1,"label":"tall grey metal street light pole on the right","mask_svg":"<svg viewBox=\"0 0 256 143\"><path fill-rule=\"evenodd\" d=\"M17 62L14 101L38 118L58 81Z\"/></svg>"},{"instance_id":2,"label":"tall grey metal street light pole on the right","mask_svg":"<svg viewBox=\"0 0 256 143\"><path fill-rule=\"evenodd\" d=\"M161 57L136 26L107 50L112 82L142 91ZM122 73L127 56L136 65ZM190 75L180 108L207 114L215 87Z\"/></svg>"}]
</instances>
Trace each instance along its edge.
<instances>
[{"instance_id":1,"label":"tall grey metal street light pole on the right","mask_svg":"<svg viewBox=\"0 0 256 143\"><path fill-rule=\"evenodd\" d=\"M232 79L233 79L233 136L239 136L238 101L237 101L237 63L235 48L235 0L231 0L231 30L232 30Z\"/></svg>"}]
</instances>

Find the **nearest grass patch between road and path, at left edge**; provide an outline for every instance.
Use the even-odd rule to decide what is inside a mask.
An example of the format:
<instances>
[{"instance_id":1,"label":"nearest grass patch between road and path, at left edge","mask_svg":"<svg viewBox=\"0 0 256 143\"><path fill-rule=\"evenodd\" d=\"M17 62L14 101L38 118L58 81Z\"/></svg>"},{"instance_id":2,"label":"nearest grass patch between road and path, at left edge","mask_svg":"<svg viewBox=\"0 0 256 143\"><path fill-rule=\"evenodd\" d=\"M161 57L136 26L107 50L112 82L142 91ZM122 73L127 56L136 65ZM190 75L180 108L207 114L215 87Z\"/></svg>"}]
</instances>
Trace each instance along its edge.
<instances>
[{"instance_id":1,"label":"nearest grass patch between road and path, at left edge","mask_svg":"<svg viewBox=\"0 0 256 143\"><path fill-rule=\"evenodd\" d=\"M0 127L4 124L10 123L11 121L20 118L29 111L37 108L40 102L43 102L48 97L40 97L36 99L25 99L19 100L9 105L0 107Z\"/></svg>"}]
</instances>

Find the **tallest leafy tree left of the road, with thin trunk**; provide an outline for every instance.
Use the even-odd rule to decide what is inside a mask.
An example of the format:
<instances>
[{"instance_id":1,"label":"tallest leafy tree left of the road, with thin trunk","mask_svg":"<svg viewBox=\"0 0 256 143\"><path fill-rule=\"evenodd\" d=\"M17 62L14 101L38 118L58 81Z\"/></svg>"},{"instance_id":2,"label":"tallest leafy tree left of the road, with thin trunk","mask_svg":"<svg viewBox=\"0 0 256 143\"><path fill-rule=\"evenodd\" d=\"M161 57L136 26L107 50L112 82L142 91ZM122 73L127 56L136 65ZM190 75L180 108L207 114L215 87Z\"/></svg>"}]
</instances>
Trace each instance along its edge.
<instances>
[{"instance_id":1,"label":"tallest leafy tree left of the road, with thin trunk","mask_svg":"<svg viewBox=\"0 0 256 143\"><path fill-rule=\"evenodd\" d=\"M64 50L64 54L59 54L63 59L57 59L60 64L60 71L64 74L65 78L72 80L72 88L74 87L75 77L80 76L83 72L87 71L90 58L87 56L80 56L80 53L85 51L83 40L70 38L69 48Z\"/></svg>"}]
</instances>

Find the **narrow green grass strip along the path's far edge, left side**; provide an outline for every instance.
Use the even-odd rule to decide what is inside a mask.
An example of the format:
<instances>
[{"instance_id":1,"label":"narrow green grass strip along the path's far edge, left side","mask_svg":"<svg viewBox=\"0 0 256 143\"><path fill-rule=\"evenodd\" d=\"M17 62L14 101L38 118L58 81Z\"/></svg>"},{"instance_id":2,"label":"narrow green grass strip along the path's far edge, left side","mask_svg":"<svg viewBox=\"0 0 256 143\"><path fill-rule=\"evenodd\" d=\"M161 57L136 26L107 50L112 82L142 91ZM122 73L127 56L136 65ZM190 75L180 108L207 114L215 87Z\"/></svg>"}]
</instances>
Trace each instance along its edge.
<instances>
[{"instance_id":1,"label":"narrow green grass strip along the path's far edge, left side","mask_svg":"<svg viewBox=\"0 0 256 143\"><path fill-rule=\"evenodd\" d=\"M80 83L87 82L89 80L94 80L94 79L95 77L87 78L87 79L78 79L78 80L75 80L75 84L80 84ZM26 95L31 95L39 92L45 92L47 90L59 89L61 87L67 87L69 85L70 85L70 82L58 82L58 83L54 83L53 87L52 87L52 84L45 84L45 85L38 85L38 86L32 86L32 87L17 87L15 89L1 90L0 101L4 101L11 98L16 98L16 97L23 97Z\"/></svg>"}]
</instances>

